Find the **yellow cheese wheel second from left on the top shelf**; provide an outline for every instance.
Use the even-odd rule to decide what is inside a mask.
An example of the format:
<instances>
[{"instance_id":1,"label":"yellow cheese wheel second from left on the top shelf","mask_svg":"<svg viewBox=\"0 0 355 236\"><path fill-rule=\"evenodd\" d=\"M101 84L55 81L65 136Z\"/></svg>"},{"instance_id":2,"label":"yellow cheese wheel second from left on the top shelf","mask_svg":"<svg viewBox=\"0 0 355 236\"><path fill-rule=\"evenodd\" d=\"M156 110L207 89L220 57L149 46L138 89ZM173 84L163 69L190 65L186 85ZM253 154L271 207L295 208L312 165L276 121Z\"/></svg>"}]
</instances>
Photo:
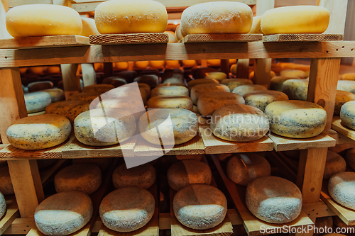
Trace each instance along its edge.
<instances>
[{"instance_id":1,"label":"yellow cheese wheel second from left on the top shelf","mask_svg":"<svg viewBox=\"0 0 355 236\"><path fill-rule=\"evenodd\" d=\"M95 9L99 33L163 33L168 13L163 4L152 0L105 1Z\"/></svg>"}]
</instances>

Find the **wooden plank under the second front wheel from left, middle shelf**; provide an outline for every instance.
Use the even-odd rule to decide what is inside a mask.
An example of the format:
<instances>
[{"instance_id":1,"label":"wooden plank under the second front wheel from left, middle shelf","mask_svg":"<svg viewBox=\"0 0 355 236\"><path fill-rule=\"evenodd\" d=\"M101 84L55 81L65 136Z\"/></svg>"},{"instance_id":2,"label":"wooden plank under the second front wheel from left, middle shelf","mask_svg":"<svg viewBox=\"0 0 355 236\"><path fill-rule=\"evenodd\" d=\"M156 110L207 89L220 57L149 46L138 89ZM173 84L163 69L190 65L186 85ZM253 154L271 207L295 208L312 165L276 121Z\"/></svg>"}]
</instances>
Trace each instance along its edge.
<instances>
[{"instance_id":1,"label":"wooden plank under the second front wheel from left, middle shelf","mask_svg":"<svg viewBox=\"0 0 355 236\"><path fill-rule=\"evenodd\" d=\"M62 158L99 158L99 157L133 157L137 135L131 137L121 145L94 147L84 145L73 138L62 150ZM1 152L1 151L0 151Z\"/></svg>"}]
</instances>

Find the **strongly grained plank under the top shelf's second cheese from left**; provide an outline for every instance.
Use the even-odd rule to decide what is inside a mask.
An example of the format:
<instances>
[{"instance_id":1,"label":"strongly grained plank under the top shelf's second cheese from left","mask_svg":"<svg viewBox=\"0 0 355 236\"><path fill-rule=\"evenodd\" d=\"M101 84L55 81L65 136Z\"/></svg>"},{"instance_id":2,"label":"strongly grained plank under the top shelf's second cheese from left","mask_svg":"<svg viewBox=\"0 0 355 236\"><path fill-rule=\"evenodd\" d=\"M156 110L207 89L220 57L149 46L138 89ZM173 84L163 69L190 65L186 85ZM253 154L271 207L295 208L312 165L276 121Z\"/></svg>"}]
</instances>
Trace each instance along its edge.
<instances>
[{"instance_id":1,"label":"strongly grained plank under the top shelf's second cheese from left","mask_svg":"<svg viewBox=\"0 0 355 236\"><path fill-rule=\"evenodd\" d=\"M110 35L90 35L89 42L99 45L168 43L167 33L123 33Z\"/></svg>"}]
</instances>

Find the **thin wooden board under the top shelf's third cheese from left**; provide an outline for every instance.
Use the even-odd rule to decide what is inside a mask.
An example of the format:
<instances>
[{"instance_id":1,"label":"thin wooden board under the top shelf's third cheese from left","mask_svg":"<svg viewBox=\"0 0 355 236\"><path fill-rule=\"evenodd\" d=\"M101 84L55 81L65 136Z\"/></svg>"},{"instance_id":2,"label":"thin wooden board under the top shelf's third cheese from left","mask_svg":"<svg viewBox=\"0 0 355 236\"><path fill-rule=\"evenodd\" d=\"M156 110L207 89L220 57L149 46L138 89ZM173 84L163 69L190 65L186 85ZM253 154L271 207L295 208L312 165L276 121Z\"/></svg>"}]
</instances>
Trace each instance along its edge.
<instances>
[{"instance_id":1,"label":"thin wooden board under the top shelf's third cheese from left","mask_svg":"<svg viewBox=\"0 0 355 236\"><path fill-rule=\"evenodd\" d=\"M179 43L253 42L262 39L262 34L202 33L186 35Z\"/></svg>"}]
</instances>

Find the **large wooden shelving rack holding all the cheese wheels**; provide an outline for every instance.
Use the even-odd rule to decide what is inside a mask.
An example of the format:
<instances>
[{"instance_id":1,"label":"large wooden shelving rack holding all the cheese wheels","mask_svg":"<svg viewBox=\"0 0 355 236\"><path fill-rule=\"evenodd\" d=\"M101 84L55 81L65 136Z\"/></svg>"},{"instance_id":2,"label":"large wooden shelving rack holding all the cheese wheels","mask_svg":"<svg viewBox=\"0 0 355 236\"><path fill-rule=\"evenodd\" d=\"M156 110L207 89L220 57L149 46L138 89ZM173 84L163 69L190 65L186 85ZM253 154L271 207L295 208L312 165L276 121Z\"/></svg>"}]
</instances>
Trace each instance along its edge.
<instances>
[{"instance_id":1,"label":"large wooden shelving rack holding all the cheese wheels","mask_svg":"<svg viewBox=\"0 0 355 236\"><path fill-rule=\"evenodd\" d=\"M170 1L160 0L167 7L184 7L200 3L200 0ZM249 0L247 4L262 4L266 7L257 8L257 14L261 15L268 7L273 7L273 0ZM72 6L79 12L93 11L99 4L97 0L40 0L36 3L61 4ZM331 12L329 28L325 33L334 35L344 34L344 22L347 1L346 0L317 0L318 4L326 6ZM7 38L4 22L4 13L10 7L28 4L28 1L0 2L0 38ZM44 199L42 184L45 179L40 179L38 166L35 159L45 158L84 158L84 157L120 157L121 152L117 150L123 147L92 148L84 147L71 137L67 143L50 150L35 152L22 152L13 149L8 145L6 130L13 120L27 116L26 106L23 99L23 90L18 67L62 64L63 80L66 96L75 93L70 84L77 84L75 77L71 74L76 71L80 63L94 62L126 62L137 60L208 60L221 59L224 68L228 68L226 62L230 58L237 58L240 64L249 64L249 58L256 59L255 75L257 84L268 84L270 79L271 59L270 58L312 58L310 69L310 84L308 88L307 101L320 104L327 111L327 127L324 133L310 140L291 140L277 135L268 135L260 142L245 144L226 143L218 140L209 140L204 135L194 137L188 145L174 147L170 154L218 154L226 152L255 152L255 151L280 151L280 150L302 150L297 174L293 175L297 186L302 191L303 198L303 225L311 224L315 218L327 215L344 214L342 210L334 210L327 202L322 193L323 203L320 201L322 189L322 176L324 173L327 148L335 145L335 140L327 132L334 128L339 133L354 139L349 132L340 131L339 125L332 120L334 111L334 100L337 88L337 80L342 57L355 57L354 41L295 41L295 42L206 42L206 43L170 43L170 44L126 44L126 45L89 45L87 39L75 38L67 45L38 45L29 42L23 47L9 46L0 49L0 136L3 145L0 146L0 158L7 159L16 202L8 206L8 215L0 220L0 234L23 234L31 236L40 235L35 230L33 213L38 203ZM79 41L78 41L79 40ZM11 42L11 41L10 41ZM11 49L11 47L13 49ZM16 49L15 49L16 48ZM70 63L70 64L68 64ZM74 64L74 65L73 65ZM246 68L246 67L244 67ZM247 69L246 69L247 70ZM241 73L241 74L247 74ZM69 88L69 89L68 89ZM204 127L200 127L204 131ZM156 154L155 147L146 145L143 140L131 140L126 146L132 157L145 154ZM160 151L160 150L158 150ZM118 154L117 154L118 153ZM60 164L58 164L60 167ZM292 169L290 169L292 171ZM52 169L46 176L55 172ZM222 173L222 172L220 172ZM228 179L225 179L227 182ZM234 185L235 186L235 185ZM229 191L230 192L230 191ZM100 192L101 193L101 192ZM236 202L235 202L236 203ZM327 205L326 205L327 204ZM330 204L330 205L329 205ZM237 209L237 210L236 210ZM253 228L251 222L246 220L247 211L241 212L230 209L229 220L232 225L244 225L250 235L258 235L258 230ZM244 209L245 210L245 209ZM18 213L21 218L18 217ZM317 214L316 214L317 213ZM344 216L344 215L343 215ZM351 217L340 217L345 223L352 224ZM6 219L6 220L5 220ZM311 220L310 220L311 219ZM5 220L5 221L4 221ZM170 229L170 216L160 214L158 217L160 229ZM172 221L173 222L173 221ZM298 224L295 227L298 227ZM263 223L258 223L263 225ZM266 225L266 224L265 224ZM255 226L255 225L254 225ZM93 219L89 228L85 227L84 233L77 235L89 235L90 232L99 232L99 235L111 235L102 228L102 223ZM135 234L129 234L135 235ZM194 234L190 234L194 235ZM198 235L198 234L195 234ZM296 234L297 236L302 233ZM308 234L310 235L310 234Z\"/></svg>"}]
</instances>

